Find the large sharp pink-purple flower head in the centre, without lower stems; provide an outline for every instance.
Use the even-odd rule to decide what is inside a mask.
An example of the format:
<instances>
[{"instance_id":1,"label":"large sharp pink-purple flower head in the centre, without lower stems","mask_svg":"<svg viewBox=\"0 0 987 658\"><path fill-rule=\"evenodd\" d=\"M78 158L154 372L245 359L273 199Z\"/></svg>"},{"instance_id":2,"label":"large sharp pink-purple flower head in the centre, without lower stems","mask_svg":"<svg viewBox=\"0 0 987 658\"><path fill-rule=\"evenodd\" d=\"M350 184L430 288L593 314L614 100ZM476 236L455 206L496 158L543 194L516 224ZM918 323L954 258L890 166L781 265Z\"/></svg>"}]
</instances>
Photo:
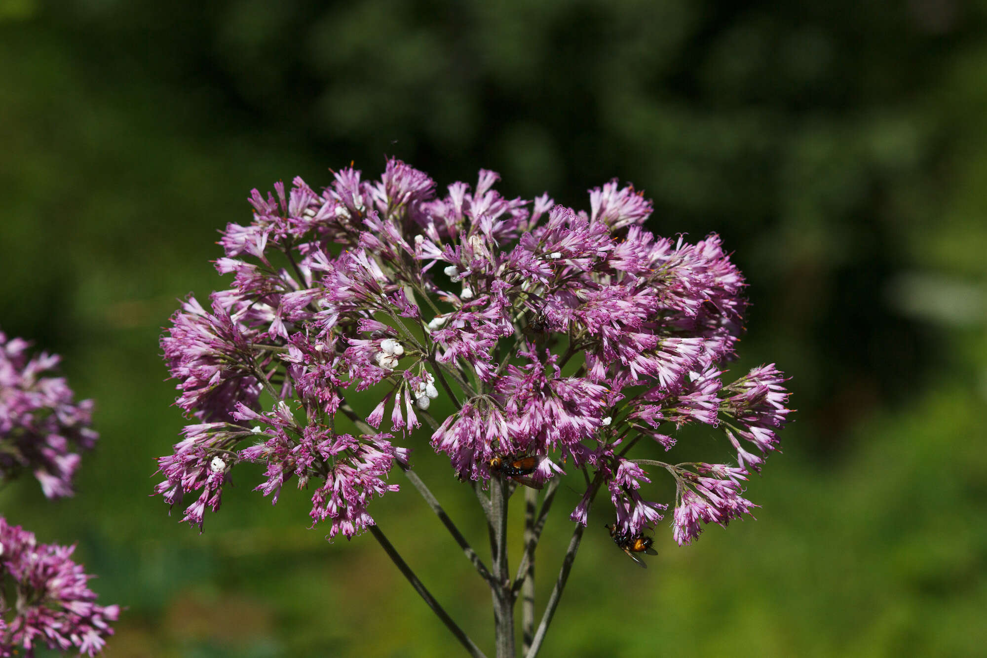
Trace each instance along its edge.
<instances>
[{"instance_id":1,"label":"large sharp pink-purple flower head in the centre, without lower stems","mask_svg":"<svg viewBox=\"0 0 987 658\"><path fill-rule=\"evenodd\" d=\"M198 492L184 521L201 529L231 468L254 461L259 490L276 501L289 481L312 487L313 523L351 536L373 523L370 499L398 488L388 473L409 453L394 441L419 416L461 479L531 456L536 486L585 469L571 518L584 524L605 486L628 536L667 505L646 499L647 464L627 449L669 450L676 429L704 423L725 431L736 463L659 466L678 486L675 538L749 511L740 482L776 449L788 393L773 366L721 378L745 303L719 237L655 236L650 202L616 182L574 210L506 199L490 171L441 195L398 160L379 180L335 178L322 192L301 179L255 190L254 220L220 240L233 287L207 307L190 297L162 339L196 422L159 459L156 492L173 505ZM433 419L436 398L453 413Z\"/></svg>"}]
</instances>

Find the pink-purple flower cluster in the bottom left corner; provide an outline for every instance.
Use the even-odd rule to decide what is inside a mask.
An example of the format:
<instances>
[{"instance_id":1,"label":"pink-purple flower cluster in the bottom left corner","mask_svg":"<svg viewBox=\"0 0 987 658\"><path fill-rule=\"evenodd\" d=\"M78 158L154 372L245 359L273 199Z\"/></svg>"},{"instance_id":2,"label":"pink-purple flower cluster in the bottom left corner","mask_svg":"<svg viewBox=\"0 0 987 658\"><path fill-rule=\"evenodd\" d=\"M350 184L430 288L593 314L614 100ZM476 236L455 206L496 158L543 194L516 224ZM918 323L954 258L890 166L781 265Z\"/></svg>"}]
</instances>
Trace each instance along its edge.
<instances>
[{"instance_id":1,"label":"pink-purple flower cluster in the bottom left corner","mask_svg":"<svg viewBox=\"0 0 987 658\"><path fill-rule=\"evenodd\" d=\"M75 546L38 544L0 517L0 656L35 655L44 646L95 656L114 634L118 606L96 605L91 576L70 558Z\"/></svg>"}]
</instances>

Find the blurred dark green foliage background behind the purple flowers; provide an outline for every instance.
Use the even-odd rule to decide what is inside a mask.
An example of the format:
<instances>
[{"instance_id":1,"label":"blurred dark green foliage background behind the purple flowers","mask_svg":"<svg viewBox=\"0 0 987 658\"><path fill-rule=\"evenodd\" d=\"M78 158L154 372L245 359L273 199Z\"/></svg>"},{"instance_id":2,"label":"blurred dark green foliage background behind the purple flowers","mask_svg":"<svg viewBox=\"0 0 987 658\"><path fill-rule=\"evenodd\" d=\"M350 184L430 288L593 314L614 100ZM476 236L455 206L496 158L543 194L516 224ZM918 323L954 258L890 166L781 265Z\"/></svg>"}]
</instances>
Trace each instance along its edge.
<instances>
[{"instance_id":1,"label":"blurred dark green foliage background behind the purple flowers","mask_svg":"<svg viewBox=\"0 0 987 658\"><path fill-rule=\"evenodd\" d=\"M985 28L959 0L0 0L0 327L64 356L102 434L74 499L23 480L0 509L78 541L128 607L108 656L457 655L369 536L307 530L307 496L272 508L239 468L204 535L148 497L183 425L161 327L228 286L216 231L254 187L396 155L585 207L617 177L655 231L721 233L752 302L735 368L777 362L798 412L756 522L687 548L661 527L645 572L601 505L544 655L984 655ZM475 499L413 444L486 555ZM414 489L371 511L492 650L489 593Z\"/></svg>"}]
</instances>

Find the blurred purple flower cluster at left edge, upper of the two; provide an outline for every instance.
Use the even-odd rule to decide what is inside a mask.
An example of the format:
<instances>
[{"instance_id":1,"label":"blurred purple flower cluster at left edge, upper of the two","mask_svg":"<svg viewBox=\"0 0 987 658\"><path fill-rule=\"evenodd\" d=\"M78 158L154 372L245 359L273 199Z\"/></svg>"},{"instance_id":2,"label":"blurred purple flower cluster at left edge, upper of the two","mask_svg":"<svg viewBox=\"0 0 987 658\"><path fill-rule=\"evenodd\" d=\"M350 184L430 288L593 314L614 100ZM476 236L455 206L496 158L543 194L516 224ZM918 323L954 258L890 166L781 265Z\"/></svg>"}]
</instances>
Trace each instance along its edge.
<instances>
[{"instance_id":1,"label":"blurred purple flower cluster at left edge, upper of the two","mask_svg":"<svg viewBox=\"0 0 987 658\"><path fill-rule=\"evenodd\" d=\"M50 375L60 357L28 358L30 343L0 332L0 481L33 471L48 498L72 495L75 451L99 435L89 425L93 401L73 402L63 377Z\"/></svg>"}]
</instances>

